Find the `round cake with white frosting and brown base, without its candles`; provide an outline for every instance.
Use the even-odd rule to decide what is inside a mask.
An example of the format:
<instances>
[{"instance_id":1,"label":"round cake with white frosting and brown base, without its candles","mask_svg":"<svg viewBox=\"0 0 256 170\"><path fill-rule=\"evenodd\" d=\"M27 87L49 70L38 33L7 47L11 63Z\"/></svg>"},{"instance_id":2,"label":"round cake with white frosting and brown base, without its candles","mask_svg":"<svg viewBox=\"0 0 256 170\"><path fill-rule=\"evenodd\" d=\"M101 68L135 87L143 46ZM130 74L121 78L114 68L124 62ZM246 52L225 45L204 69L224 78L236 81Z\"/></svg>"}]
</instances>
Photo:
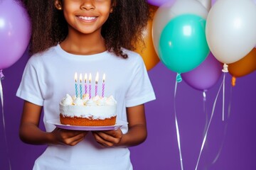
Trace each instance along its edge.
<instances>
[{"instance_id":1,"label":"round cake with white frosting and brown base, without its candles","mask_svg":"<svg viewBox=\"0 0 256 170\"><path fill-rule=\"evenodd\" d=\"M109 126L116 123L117 101L113 96L89 98L87 95L71 97L60 101L60 123L78 126Z\"/></svg>"}]
</instances>

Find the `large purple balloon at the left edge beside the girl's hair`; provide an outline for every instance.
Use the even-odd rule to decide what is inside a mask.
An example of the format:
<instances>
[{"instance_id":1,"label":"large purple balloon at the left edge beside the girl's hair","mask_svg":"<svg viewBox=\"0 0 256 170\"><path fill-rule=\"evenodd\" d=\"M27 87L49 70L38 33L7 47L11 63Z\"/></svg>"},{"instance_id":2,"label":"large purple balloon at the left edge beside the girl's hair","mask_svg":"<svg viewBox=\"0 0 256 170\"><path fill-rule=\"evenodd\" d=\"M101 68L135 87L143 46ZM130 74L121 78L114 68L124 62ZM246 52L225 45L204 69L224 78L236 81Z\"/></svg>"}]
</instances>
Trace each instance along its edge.
<instances>
[{"instance_id":1,"label":"large purple balloon at the left edge beside the girl's hair","mask_svg":"<svg viewBox=\"0 0 256 170\"><path fill-rule=\"evenodd\" d=\"M31 23L22 4L0 1L0 69L14 64L25 52L31 37Z\"/></svg>"}]
</instances>

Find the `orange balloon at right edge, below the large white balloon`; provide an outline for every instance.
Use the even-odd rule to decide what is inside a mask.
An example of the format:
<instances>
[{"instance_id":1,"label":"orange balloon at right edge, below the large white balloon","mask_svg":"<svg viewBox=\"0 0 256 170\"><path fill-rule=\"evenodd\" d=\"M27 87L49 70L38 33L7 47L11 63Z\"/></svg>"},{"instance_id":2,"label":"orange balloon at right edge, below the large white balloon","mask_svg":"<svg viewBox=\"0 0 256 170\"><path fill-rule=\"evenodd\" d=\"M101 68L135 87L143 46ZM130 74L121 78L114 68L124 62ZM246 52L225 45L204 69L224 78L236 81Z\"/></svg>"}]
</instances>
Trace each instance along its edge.
<instances>
[{"instance_id":1,"label":"orange balloon at right edge, below the large white balloon","mask_svg":"<svg viewBox=\"0 0 256 170\"><path fill-rule=\"evenodd\" d=\"M243 77L256 70L256 48L253 48L245 57L238 62L228 64L228 72L233 76L232 86L235 86L235 77Z\"/></svg>"}]
</instances>

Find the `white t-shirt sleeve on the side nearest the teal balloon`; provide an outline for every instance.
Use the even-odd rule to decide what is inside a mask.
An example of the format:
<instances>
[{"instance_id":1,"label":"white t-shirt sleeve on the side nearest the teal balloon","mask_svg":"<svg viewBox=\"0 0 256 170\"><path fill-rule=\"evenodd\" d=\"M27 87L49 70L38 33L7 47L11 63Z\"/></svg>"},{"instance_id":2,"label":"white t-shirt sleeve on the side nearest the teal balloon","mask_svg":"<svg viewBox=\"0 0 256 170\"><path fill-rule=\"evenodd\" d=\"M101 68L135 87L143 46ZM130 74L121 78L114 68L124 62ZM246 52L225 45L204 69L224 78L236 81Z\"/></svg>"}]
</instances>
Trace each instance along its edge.
<instances>
[{"instance_id":1,"label":"white t-shirt sleeve on the side nearest the teal balloon","mask_svg":"<svg viewBox=\"0 0 256 170\"><path fill-rule=\"evenodd\" d=\"M137 57L133 79L126 95L126 107L138 106L156 99L142 57Z\"/></svg>"}]
</instances>

